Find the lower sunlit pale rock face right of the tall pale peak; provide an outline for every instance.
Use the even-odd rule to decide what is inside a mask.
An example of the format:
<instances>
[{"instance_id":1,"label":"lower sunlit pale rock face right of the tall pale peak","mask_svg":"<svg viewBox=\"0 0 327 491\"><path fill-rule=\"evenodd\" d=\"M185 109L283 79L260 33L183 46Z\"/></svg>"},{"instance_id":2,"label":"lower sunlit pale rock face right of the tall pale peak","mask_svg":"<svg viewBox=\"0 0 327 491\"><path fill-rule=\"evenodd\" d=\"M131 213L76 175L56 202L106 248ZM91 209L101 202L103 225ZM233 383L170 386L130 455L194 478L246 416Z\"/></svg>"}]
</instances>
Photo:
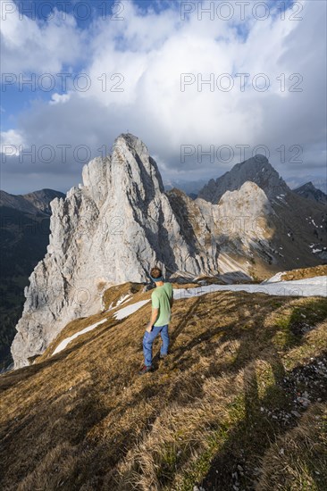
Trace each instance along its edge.
<instances>
[{"instance_id":1,"label":"lower sunlit pale rock face right of the tall pale peak","mask_svg":"<svg viewBox=\"0 0 327 491\"><path fill-rule=\"evenodd\" d=\"M247 181L239 190L226 191L219 204L201 198L193 201L178 189L167 195L188 243L205 250L223 278L251 279L247 259L253 259L259 240L265 248L272 235L267 219L274 211L264 191Z\"/></svg>"}]
</instances>

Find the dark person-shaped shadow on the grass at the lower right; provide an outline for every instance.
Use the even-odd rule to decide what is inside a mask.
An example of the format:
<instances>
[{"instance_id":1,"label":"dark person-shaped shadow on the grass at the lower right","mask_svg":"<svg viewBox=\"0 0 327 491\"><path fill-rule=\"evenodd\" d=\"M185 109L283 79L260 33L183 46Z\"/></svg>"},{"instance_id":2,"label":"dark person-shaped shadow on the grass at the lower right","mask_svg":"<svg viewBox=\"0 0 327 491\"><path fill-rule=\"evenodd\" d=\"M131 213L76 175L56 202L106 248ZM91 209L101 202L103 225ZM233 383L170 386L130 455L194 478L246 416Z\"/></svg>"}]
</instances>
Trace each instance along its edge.
<instances>
[{"instance_id":1,"label":"dark person-shaped shadow on the grass at the lower right","mask_svg":"<svg viewBox=\"0 0 327 491\"><path fill-rule=\"evenodd\" d=\"M326 402L326 394L321 394L321 399ZM275 405L276 402L277 414L289 412L292 408L290 398L279 386L269 387L264 398L260 398L256 370L254 364L249 365L245 370L244 399L239 398L233 408L235 411L240 410L238 404L242 411L244 408L244 418L231 430L228 440L210 462L210 468L201 482L206 491L232 490L234 486L247 490L256 489L260 459L277 437L298 424L296 417L283 424L276 412L272 415L272 412L269 414L261 411L262 407L272 409L272 404ZM306 409L301 412L306 412ZM323 491L326 483L321 482L312 465L306 467L314 481L315 489Z\"/></svg>"}]
</instances>

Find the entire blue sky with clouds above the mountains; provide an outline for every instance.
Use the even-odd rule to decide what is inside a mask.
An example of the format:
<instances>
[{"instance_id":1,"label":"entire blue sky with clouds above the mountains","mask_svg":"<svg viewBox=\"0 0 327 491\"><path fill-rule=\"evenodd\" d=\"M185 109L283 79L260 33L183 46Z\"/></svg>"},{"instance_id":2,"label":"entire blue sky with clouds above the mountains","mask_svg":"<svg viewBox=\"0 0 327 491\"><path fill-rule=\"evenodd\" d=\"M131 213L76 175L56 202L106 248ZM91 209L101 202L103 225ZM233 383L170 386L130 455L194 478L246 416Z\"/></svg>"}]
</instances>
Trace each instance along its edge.
<instances>
[{"instance_id":1,"label":"entire blue sky with clouds above the mountains","mask_svg":"<svg viewBox=\"0 0 327 491\"><path fill-rule=\"evenodd\" d=\"M220 4L232 2L219 1L202 2L203 9L214 4L211 14L182 0L4 2L1 188L8 192L66 191L85 163L73 149L86 145L97 156L127 129L145 141L167 180L218 177L239 162L239 146L248 157L260 145L285 179L324 179L324 2L267 0L265 19L262 2L246 2L243 20L236 8L225 19ZM240 73L249 75L243 90ZM76 87L82 74L85 91ZM230 92L218 87L222 74L234 84ZM21 83L31 77L34 87ZM201 86L208 78L214 86ZM67 162L57 151L63 145L71 145ZM19 150L31 146L33 162ZM38 158L43 146L55 149L51 162ZM195 151L182 162L185 146ZM222 146L233 150L228 162L218 158ZM201 154L212 147L214 162Z\"/></svg>"}]
</instances>

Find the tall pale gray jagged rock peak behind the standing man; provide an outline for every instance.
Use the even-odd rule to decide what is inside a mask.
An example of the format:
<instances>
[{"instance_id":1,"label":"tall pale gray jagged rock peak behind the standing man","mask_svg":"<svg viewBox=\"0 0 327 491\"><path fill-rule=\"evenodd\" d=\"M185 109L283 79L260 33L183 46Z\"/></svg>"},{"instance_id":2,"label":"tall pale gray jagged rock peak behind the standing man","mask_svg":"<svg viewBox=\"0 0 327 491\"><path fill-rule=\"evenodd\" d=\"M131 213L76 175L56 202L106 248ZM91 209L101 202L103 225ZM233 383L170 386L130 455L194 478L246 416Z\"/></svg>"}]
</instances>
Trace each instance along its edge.
<instances>
[{"instance_id":1,"label":"tall pale gray jagged rock peak behind the standing man","mask_svg":"<svg viewBox=\"0 0 327 491\"><path fill-rule=\"evenodd\" d=\"M154 264L167 276L217 270L215 258L180 230L156 163L137 137L118 137L113 154L89 162L82 178L51 203L47 253L29 277L16 326L15 367L43 353L70 320L99 312L107 287L146 281Z\"/></svg>"}]
</instances>

